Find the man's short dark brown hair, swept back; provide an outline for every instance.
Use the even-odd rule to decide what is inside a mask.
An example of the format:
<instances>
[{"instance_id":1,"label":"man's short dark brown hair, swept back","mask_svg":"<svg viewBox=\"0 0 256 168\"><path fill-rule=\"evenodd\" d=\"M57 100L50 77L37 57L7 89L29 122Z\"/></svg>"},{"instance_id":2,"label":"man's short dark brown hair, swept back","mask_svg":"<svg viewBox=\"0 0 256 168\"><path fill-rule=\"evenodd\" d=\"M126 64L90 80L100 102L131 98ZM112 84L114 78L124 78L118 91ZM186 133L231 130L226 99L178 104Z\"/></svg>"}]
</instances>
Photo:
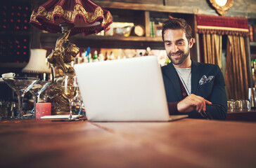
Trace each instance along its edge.
<instances>
[{"instance_id":1,"label":"man's short dark brown hair, swept back","mask_svg":"<svg viewBox=\"0 0 256 168\"><path fill-rule=\"evenodd\" d=\"M190 25L186 22L186 20L181 18L171 18L169 20L166 20L162 23L162 41L165 41L164 39L164 32L167 29L184 29L186 38L188 41L192 38L192 30Z\"/></svg>"}]
</instances>

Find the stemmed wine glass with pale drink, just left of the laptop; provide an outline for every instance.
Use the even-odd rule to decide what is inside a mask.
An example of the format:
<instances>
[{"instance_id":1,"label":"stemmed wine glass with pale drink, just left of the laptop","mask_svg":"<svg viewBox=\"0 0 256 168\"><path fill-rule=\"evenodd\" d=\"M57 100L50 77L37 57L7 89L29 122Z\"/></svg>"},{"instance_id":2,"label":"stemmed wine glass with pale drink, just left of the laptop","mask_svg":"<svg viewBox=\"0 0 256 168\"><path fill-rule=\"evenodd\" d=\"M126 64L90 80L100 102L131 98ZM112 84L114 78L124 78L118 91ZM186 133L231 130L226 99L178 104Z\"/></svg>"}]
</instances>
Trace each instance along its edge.
<instances>
[{"instance_id":1,"label":"stemmed wine glass with pale drink, just left of the laptop","mask_svg":"<svg viewBox=\"0 0 256 168\"><path fill-rule=\"evenodd\" d=\"M78 94L77 77L63 76L63 82L61 85L63 97L68 99L68 102L70 103L70 116L68 117L68 120L72 120L72 99L75 99Z\"/></svg>"}]
</instances>

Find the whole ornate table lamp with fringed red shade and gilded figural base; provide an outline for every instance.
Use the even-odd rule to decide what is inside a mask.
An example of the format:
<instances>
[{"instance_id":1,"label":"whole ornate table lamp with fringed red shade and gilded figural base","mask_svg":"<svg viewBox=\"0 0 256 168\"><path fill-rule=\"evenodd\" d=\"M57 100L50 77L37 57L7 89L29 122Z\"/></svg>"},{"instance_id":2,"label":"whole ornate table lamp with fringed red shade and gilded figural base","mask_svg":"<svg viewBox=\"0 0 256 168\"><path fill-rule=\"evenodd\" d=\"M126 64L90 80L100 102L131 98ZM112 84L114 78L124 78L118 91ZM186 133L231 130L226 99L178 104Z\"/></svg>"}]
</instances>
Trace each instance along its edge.
<instances>
[{"instance_id":1,"label":"whole ornate table lamp with fringed red shade and gilded figural base","mask_svg":"<svg viewBox=\"0 0 256 168\"><path fill-rule=\"evenodd\" d=\"M32 11L30 23L34 27L50 33L61 33L55 48L47 57L53 75L52 96L49 100L52 111L68 111L68 100L62 96L59 83L62 76L75 76L70 63L79 53L79 48L68 40L68 36L78 33L87 36L107 31L112 20L108 10L90 0L49 0Z\"/></svg>"}]
</instances>

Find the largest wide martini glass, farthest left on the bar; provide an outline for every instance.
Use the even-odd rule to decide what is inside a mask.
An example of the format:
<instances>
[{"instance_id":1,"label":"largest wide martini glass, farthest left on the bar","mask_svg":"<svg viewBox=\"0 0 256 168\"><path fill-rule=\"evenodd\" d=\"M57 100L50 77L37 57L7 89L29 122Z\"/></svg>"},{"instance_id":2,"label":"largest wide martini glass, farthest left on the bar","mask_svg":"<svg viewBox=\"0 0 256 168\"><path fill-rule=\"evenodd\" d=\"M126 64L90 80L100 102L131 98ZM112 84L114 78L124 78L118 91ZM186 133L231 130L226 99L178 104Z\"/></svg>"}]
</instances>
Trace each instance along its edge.
<instances>
[{"instance_id":1,"label":"largest wide martini glass, farthest left on the bar","mask_svg":"<svg viewBox=\"0 0 256 168\"><path fill-rule=\"evenodd\" d=\"M23 119L23 98L26 92L28 92L35 83L39 81L39 78L31 77L9 77L3 78L4 82L11 87L11 89L18 96L18 119Z\"/></svg>"}]
</instances>

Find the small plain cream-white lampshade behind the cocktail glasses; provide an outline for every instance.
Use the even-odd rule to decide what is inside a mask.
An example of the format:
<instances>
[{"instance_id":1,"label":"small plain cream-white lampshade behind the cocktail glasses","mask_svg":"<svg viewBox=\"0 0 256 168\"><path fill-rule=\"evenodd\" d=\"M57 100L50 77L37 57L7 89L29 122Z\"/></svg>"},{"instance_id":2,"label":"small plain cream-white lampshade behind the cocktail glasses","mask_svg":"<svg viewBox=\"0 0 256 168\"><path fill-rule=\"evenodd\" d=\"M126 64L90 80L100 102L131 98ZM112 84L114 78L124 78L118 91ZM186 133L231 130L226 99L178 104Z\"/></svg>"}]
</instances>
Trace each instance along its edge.
<instances>
[{"instance_id":1,"label":"small plain cream-white lampshade behind the cocktail glasses","mask_svg":"<svg viewBox=\"0 0 256 168\"><path fill-rule=\"evenodd\" d=\"M46 50L30 49L30 61L22 72L27 73L51 73L51 69L46 64Z\"/></svg>"}]
</instances>

